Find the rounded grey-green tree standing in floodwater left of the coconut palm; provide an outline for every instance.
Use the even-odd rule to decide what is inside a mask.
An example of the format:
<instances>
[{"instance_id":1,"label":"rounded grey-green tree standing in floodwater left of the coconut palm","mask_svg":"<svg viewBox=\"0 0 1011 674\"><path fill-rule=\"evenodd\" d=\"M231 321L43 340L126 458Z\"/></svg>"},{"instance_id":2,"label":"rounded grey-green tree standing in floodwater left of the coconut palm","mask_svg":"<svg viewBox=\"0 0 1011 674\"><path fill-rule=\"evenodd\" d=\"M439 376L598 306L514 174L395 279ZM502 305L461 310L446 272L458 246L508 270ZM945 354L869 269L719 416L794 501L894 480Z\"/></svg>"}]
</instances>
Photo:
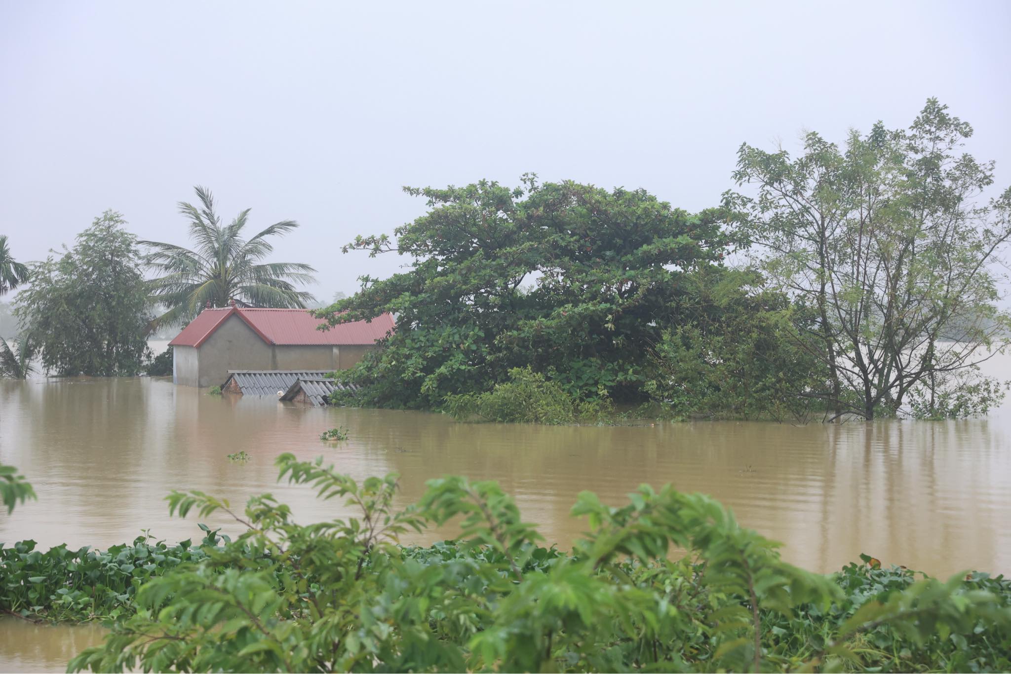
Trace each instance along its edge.
<instances>
[{"instance_id":1,"label":"rounded grey-green tree standing in floodwater left of the coconut palm","mask_svg":"<svg viewBox=\"0 0 1011 674\"><path fill-rule=\"evenodd\" d=\"M59 375L134 375L149 355L148 284L136 237L107 210L73 249L31 268L14 301L24 334Z\"/></svg>"}]
</instances>

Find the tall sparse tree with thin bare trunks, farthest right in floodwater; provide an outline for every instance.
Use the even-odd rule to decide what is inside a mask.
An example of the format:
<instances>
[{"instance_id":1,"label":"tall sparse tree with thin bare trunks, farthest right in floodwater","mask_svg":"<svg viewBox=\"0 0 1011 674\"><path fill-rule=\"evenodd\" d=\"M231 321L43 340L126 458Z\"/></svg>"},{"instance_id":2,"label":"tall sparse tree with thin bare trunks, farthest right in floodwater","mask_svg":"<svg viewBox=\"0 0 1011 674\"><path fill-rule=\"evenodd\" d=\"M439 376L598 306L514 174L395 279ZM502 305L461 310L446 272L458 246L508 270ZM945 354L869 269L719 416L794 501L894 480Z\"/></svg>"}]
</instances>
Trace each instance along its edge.
<instances>
[{"instance_id":1,"label":"tall sparse tree with thin bare trunks, farthest right in floodwater","mask_svg":"<svg viewBox=\"0 0 1011 674\"><path fill-rule=\"evenodd\" d=\"M840 148L815 132L804 152L741 147L729 209L777 287L818 315L793 339L829 369L810 392L836 416L915 409L952 413L975 391L984 411L1000 395L975 376L1007 344L997 263L1011 236L1011 190L986 200L992 162L961 150L969 123L930 99L907 129L851 131Z\"/></svg>"}]
</instances>

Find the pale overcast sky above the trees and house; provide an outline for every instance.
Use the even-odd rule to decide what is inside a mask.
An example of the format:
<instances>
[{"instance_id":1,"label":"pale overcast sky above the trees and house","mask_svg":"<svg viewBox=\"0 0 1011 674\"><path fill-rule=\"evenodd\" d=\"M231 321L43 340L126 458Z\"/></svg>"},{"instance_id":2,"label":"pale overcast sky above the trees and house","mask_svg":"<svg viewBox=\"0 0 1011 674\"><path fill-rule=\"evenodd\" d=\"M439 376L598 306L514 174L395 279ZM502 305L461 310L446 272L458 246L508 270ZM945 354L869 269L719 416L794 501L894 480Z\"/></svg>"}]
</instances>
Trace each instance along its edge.
<instances>
[{"instance_id":1,"label":"pale overcast sky above the trees and house","mask_svg":"<svg viewBox=\"0 0 1011 674\"><path fill-rule=\"evenodd\" d=\"M405 262L342 255L425 210L403 185L643 187L718 203L742 141L797 148L929 96L1011 184L1011 2L0 0L0 233L44 257L106 208L187 243L206 185L276 259L353 292Z\"/></svg>"}]
</instances>

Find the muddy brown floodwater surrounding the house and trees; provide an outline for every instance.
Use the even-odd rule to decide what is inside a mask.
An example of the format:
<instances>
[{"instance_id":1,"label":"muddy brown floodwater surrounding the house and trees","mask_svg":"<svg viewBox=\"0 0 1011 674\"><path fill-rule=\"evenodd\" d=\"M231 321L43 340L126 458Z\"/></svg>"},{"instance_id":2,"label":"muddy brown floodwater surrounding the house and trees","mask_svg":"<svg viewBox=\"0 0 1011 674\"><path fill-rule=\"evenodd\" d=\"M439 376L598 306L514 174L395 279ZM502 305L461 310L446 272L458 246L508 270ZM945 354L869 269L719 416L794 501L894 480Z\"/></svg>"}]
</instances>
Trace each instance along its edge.
<instances>
[{"instance_id":1,"label":"muddy brown floodwater surrounding the house and trees","mask_svg":"<svg viewBox=\"0 0 1011 674\"><path fill-rule=\"evenodd\" d=\"M337 425L350 440L318 440ZM987 419L944 422L551 427L293 407L160 379L0 381L0 463L17 466L38 494L12 515L0 513L0 541L106 547L143 529L170 542L198 539L196 519L169 517L164 496L173 488L240 505L269 491L303 521L345 512L276 483L274 458L292 452L323 455L356 478L399 473L402 503L447 474L497 480L545 540L562 547L583 531L568 516L579 491L617 505L641 483L669 482L712 494L744 524L783 542L787 560L813 571L836 570L865 552L935 575L1007 573L1009 441L1007 407ZM250 461L229 462L226 455L240 451ZM237 531L223 516L207 523ZM100 636L95 628L0 620L0 670L63 671Z\"/></svg>"}]
</instances>

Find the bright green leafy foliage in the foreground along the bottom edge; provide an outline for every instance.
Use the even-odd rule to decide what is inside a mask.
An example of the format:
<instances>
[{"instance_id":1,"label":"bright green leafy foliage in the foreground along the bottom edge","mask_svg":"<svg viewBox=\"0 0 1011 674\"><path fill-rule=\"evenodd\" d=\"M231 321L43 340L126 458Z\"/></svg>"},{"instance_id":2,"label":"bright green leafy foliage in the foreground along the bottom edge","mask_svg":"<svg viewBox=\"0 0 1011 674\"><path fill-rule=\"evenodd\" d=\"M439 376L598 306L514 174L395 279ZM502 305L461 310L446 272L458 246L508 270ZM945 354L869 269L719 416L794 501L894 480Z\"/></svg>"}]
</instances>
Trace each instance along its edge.
<instances>
[{"instance_id":1,"label":"bright green leafy foliage in the foreground along the bottom edge","mask_svg":"<svg viewBox=\"0 0 1011 674\"><path fill-rule=\"evenodd\" d=\"M136 588L136 612L72 671L1002 670L1011 587L851 565L834 577L784 563L719 503L641 487L621 508L584 492L571 554L491 482L446 478L394 509L393 476L361 484L320 461L278 459L282 478L357 513L299 525L269 494L245 532ZM228 509L175 492L170 510ZM401 548L453 520L460 539ZM686 551L668 559L674 546ZM135 567L135 565L133 565ZM132 573L132 572L131 572Z\"/></svg>"}]
</instances>

